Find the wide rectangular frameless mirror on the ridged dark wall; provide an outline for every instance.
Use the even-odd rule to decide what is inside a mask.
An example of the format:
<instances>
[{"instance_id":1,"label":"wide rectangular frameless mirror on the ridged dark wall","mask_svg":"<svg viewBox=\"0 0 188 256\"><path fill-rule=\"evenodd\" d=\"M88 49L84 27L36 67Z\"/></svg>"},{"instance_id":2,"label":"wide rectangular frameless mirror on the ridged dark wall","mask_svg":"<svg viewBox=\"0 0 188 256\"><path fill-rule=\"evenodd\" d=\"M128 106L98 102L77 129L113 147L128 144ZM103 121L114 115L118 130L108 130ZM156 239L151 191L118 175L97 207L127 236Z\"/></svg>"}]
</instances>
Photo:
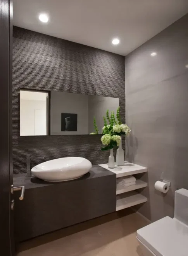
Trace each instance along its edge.
<instances>
[{"instance_id":1,"label":"wide rectangular frameless mirror on the ridged dark wall","mask_svg":"<svg viewBox=\"0 0 188 256\"><path fill-rule=\"evenodd\" d=\"M56 91L20 90L20 135L81 135L99 133L107 109L116 112L119 99Z\"/></svg>"}]
</instances>

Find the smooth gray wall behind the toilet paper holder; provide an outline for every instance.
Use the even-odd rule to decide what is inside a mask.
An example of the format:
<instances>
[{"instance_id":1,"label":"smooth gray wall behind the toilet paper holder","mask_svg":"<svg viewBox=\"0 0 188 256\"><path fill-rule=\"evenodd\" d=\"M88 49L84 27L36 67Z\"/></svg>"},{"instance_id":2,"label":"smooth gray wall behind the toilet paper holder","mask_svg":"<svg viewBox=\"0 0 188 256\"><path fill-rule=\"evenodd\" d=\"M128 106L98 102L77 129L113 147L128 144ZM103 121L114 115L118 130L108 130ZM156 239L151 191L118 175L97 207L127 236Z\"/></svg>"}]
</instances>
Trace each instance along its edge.
<instances>
[{"instance_id":1,"label":"smooth gray wall behind the toilet paper holder","mask_svg":"<svg viewBox=\"0 0 188 256\"><path fill-rule=\"evenodd\" d=\"M188 189L187 24L188 14L125 58L126 159L148 167L149 201L137 209L152 221L173 217L174 191ZM160 178L172 183L166 195L154 190Z\"/></svg>"}]
</instances>

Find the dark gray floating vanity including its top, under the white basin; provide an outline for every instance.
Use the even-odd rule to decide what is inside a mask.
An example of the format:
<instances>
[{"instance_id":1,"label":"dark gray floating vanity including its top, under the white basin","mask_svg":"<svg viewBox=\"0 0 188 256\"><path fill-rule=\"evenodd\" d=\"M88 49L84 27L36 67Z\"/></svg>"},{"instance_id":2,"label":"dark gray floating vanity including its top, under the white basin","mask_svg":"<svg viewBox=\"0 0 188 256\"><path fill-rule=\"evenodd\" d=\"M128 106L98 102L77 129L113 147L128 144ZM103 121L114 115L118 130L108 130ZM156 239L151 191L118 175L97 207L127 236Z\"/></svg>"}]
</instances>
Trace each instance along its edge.
<instances>
[{"instance_id":1,"label":"dark gray floating vanity including its top, under the white basin","mask_svg":"<svg viewBox=\"0 0 188 256\"><path fill-rule=\"evenodd\" d=\"M116 174L101 166L67 182L15 176L14 186L21 185L24 200L14 194L17 242L116 211Z\"/></svg>"}]
</instances>

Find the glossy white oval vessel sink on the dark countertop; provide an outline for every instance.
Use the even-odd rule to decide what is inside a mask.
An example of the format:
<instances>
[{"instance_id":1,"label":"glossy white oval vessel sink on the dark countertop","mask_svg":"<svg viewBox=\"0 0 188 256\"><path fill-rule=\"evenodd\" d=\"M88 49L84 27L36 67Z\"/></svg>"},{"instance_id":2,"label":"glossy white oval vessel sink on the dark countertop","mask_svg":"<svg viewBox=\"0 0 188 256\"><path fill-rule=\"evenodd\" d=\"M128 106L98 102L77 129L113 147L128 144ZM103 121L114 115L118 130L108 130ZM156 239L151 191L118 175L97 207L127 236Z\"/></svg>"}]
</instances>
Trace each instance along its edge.
<instances>
[{"instance_id":1,"label":"glossy white oval vessel sink on the dark countertop","mask_svg":"<svg viewBox=\"0 0 188 256\"><path fill-rule=\"evenodd\" d=\"M34 166L31 173L48 182L78 179L88 173L92 164L83 157L63 157Z\"/></svg>"}]
</instances>

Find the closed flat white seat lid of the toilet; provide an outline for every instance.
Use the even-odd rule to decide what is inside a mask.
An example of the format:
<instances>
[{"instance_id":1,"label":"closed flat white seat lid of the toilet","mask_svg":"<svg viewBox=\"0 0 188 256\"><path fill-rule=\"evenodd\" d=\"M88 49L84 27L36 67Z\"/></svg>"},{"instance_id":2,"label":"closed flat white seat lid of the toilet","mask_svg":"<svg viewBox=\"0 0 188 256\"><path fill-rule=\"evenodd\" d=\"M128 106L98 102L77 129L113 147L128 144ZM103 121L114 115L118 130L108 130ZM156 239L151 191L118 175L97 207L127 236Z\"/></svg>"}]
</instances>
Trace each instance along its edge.
<instances>
[{"instance_id":1,"label":"closed flat white seat lid of the toilet","mask_svg":"<svg viewBox=\"0 0 188 256\"><path fill-rule=\"evenodd\" d=\"M137 230L137 238L156 256L188 255L188 226L168 216Z\"/></svg>"}]
</instances>

